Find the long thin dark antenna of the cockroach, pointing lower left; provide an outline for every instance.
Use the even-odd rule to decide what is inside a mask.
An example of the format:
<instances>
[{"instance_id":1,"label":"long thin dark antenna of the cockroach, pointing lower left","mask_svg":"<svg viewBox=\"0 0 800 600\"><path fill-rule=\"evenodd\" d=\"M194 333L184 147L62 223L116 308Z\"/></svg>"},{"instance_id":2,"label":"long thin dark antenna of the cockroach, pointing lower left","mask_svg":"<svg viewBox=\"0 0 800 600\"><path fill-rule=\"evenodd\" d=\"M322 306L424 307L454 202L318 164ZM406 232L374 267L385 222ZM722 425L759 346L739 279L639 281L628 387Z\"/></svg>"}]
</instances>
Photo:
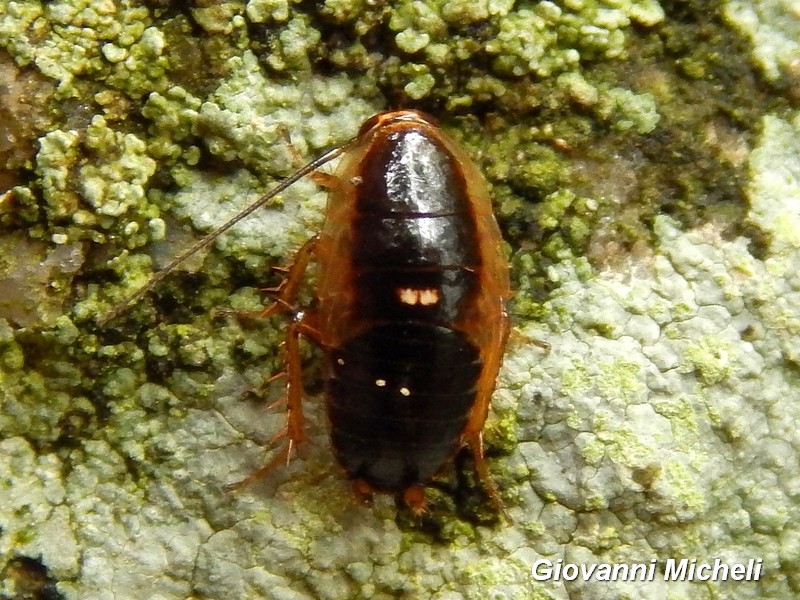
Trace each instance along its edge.
<instances>
[{"instance_id":1,"label":"long thin dark antenna of the cockroach, pointing lower left","mask_svg":"<svg viewBox=\"0 0 800 600\"><path fill-rule=\"evenodd\" d=\"M217 229L215 229L211 233L207 234L205 237L198 240L194 245L181 252L166 267L155 273L149 279L149 281L145 283L141 288L139 288L138 290L136 290L136 292L134 292L133 294L122 300L119 304L117 304L114 308L112 308L110 312L106 313L104 316L98 319L97 324L102 327L106 325L109 321L116 319L118 316L124 313L129 307L131 307L133 304L141 300L145 296L145 294L147 294L147 292L149 292L167 275L169 275L172 271L174 271L175 267L180 265L187 258L196 254L203 248L206 248L209 245L211 245L214 242L214 240L216 240L219 236L228 231L228 229L236 225L239 221L249 217L252 213L254 213L256 210L264 206L267 202L272 200L275 196L286 190L288 187L290 187L291 185L293 185L306 175L313 173L325 163L333 160L334 158L345 152L345 150L347 150L347 148L350 146L351 143L352 140L342 144L341 146L332 148L327 152L324 152L311 162L305 164L297 171L292 173L289 177L281 181L274 188L269 190L266 194L261 196L258 200L250 204L247 208L241 210L239 213L231 217L227 222L220 225Z\"/></svg>"}]
</instances>

